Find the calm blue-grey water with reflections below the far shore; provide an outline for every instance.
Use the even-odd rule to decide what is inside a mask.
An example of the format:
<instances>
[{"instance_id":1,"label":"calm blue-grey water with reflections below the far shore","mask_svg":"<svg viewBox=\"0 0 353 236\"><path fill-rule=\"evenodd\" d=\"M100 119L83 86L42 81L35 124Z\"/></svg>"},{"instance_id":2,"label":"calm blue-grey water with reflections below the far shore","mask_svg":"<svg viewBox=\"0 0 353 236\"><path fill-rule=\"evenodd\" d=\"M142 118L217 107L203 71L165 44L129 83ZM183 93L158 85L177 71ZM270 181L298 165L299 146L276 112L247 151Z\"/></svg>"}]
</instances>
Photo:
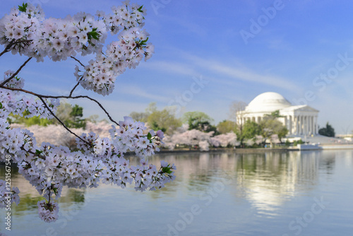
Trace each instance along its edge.
<instances>
[{"instance_id":1,"label":"calm blue-grey water with reflections below the far shore","mask_svg":"<svg viewBox=\"0 0 353 236\"><path fill-rule=\"evenodd\" d=\"M13 168L21 201L7 235L353 235L353 151L155 155L177 165L162 191L65 189L60 218ZM133 160L137 160L133 158ZM4 179L4 166L0 177Z\"/></svg>"}]
</instances>

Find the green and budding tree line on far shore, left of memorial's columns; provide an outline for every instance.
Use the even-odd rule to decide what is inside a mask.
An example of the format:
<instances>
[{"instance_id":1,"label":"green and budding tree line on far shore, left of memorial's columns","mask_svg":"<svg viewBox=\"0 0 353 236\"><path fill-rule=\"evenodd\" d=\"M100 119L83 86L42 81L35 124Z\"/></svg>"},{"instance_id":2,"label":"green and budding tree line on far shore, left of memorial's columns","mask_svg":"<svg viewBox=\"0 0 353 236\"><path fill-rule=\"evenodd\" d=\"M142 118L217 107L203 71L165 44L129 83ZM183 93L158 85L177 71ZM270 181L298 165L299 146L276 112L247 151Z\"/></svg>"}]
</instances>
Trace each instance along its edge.
<instances>
[{"instance_id":1,"label":"green and budding tree line on far shore, left of memorial's columns","mask_svg":"<svg viewBox=\"0 0 353 236\"><path fill-rule=\"evenodd\" d=\"M229 119L225 119L217 125L214 125L214 120L204 112L186 112L181 118L177 118L172 108L166 107L163 110L158 110L155 102L150 103L145 112L131 112L130 116L136 121L147 123L151 129L161 129L167 135L172 135L182 124L188 124L189 130L196 129L205 133L213 131L213 136L233 132L237 134L240 146L258 143L259 136L261 136L261 142L258 143L258 146L265 146L266 141L274 135L281 142L282 138L288 134L287 128L277 119L280 117L279 111L266 115L259 123L248 120L245 124L238 125L234 117L237 112L236 106L244 108L245 105L241 102L234 104L230 109Z\"/></svg>"}]
</instances>

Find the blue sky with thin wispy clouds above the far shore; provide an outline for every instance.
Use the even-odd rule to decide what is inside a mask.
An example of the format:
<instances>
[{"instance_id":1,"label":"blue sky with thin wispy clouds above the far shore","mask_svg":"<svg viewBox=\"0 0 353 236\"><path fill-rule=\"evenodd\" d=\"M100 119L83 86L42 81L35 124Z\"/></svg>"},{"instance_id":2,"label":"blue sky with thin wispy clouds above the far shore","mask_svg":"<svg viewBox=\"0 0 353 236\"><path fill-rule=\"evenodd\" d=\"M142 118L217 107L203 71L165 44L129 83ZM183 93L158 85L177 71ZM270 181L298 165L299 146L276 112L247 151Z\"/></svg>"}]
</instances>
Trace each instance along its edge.
<instances>
[{"instance_id":1,"label":"blue sky with thin wispy clouds above the far shore","mask_svg":"<svg viewBox=\"0 0 353 236\"><path fill-rule=\"evenodd\" d=\"M120 5L91 0L30 2L40 2L46 16L55 18ZM112 95L78 90L101 100L114 119L157 102L161 109L179 105L179 115L205 112L217 124L228 118L232 101L249 103L256 95L272 91L294 105L305 103L320 110L321 126L330 122L338 134L353 130L352 1L131 2L148 9L145 28L155 45L152 59L119 76ZM22 1L1 1L0 15L19 4ZM15 70L23 61L7 54L0 69ZM20 75L25 88L59 95L75 84L75 65L73 60L30 61ZM201 78L203 83L198 85ZM84 107L86 117L105 118L92 103L75 103Z\"/></svg>"}]
</instances>

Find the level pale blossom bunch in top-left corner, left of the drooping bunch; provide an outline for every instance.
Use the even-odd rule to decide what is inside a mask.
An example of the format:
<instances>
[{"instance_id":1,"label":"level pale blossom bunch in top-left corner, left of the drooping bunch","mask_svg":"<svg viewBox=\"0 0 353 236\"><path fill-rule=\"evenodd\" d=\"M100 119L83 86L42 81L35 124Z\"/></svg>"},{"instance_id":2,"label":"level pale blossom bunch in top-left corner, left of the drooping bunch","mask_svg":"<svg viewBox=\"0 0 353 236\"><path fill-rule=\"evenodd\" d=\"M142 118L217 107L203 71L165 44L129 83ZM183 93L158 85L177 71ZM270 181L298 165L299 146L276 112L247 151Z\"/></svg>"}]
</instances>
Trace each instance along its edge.
<instances>
[{"instance_id":1,"label":"level pale blossom bunch in top-left corner, left of the drooping bunch","mask_svg":"<svg viewBox=\"0 0 353 236\"><path fill-rule=\"evenodd\" d=\"M93 29L102 37L89 38L88 33ZM13 43L13 54L35 57L37 61L44 61L46 56L61 61L77 52L99 52L106 33L104 22L94 20L89 14L45 19L42 8L32 4L27 4L22 11L12 8L0 20L0 44Z\"/></svg>"}]
</instances>

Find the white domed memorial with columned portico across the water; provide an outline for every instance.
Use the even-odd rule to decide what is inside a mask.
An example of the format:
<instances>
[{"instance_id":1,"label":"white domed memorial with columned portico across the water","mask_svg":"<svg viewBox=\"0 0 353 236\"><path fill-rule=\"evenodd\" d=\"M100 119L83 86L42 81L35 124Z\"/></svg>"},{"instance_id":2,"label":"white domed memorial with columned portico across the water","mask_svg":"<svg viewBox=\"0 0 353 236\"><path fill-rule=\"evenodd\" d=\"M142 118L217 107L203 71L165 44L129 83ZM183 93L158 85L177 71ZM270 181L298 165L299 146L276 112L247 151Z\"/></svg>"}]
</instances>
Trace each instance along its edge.
<instances>
[{"instance_id":1,"label":"white domed memorial with columned portico across the water","mask_svg":"<svg viewBox=\"0 0 353 236\"><path fill-rule=\"evenodd\" d=\"M288 129L288 135L309 136L318 134L318 110L308 105L293 106L279 93L261 93L254 98L245 110L237 112L237 123L244 124L247 120L260 122L265 114L280 111L278 118Z\"/></svg>"}]
</instances>

